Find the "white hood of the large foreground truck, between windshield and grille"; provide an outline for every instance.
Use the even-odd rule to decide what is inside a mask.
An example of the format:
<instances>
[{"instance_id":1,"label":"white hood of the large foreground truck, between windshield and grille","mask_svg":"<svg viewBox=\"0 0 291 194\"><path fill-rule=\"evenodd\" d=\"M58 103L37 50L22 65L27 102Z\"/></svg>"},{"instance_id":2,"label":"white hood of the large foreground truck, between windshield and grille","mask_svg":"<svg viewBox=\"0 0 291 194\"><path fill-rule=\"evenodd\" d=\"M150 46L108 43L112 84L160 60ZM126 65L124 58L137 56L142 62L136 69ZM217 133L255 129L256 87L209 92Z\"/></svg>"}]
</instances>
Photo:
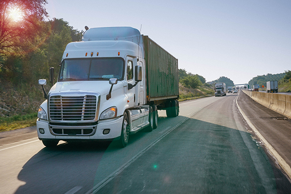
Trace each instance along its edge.
<instances>
[{"instance_id":1,"label":"white hood of the large foreground truck, between windshield and grille","mask_svg":"<svg viewBox=\"0 0 291 194\"><path fill-rule=\"evenodd\" d=\"M60 81L51 87L49 94L65 91L90 91L97 92L102 96L109 93L110 87L109 81ZM118 81L117 84L113 85L112 91L120 87L123 87L122 81Z\"/></svg>"}]
</instances>

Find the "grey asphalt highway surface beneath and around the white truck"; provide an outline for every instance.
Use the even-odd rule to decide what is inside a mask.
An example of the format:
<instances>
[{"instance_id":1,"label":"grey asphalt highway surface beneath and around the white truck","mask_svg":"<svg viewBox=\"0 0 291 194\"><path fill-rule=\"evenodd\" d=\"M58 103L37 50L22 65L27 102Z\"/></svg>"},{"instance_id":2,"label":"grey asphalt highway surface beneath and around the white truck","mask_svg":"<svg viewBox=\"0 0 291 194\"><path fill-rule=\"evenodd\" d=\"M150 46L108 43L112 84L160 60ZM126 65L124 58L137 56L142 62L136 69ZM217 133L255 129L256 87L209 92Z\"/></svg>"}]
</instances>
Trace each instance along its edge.
<instances>
[{"instance_id":1,"label":"grey asphalt highway surface beneath and around the white truck","mask_svg":"<svg viewBox=\"0 0 291 194\"><path fill-rule=\"evenodd\" d=\"M291 165L291 121L245 94L180 102L159 127L116 142L46 148L35 128L0 133L0 194L288 194L288 173L237 104ZM269 126L269 127L266 127ZM284 175L285 174L285 175Z\"/></svg>"}]
</instances>

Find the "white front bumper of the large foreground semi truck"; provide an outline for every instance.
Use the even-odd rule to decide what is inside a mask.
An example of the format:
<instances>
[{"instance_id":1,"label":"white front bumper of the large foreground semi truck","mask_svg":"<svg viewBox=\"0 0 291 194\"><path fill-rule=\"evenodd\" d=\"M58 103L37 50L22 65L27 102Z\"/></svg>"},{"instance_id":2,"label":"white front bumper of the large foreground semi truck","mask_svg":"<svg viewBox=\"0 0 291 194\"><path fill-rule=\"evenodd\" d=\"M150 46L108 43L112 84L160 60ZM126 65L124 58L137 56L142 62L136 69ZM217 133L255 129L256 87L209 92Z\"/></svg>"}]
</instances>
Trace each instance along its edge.
<instances>
[{"instance_id":1,"label":"white front bumper of the large foreground semi truck","mask_svg":"<svg viewBox=\"0 0 291 194\"><path fill-rule=\"evenodd\" d=\"M123 116L94 126L57 126L37 119L36 128L40 140L110 140L120 137L122 122ZM44 133L41 133L40 129L43 129ZM105 129L109 129L108 134L103 134Z\"/></svg>"}]
</instances>

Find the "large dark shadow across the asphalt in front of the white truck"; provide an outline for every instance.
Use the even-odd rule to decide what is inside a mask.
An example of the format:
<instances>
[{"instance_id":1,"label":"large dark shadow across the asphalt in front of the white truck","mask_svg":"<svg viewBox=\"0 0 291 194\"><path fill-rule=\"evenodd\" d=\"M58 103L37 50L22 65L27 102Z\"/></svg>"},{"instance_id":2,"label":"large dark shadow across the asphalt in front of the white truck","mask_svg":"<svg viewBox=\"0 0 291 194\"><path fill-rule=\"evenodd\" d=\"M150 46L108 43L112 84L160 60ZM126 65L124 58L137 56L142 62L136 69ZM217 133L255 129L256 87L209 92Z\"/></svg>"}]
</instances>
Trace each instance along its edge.
<instances>
[{"instance_id":1,"label":"large dark shadow across the asphalt in front of the white truck","mask_svg":"<svg viewBox=\"0 0 291 194\"><path fill-rule=\"evenodd\" d=\"M161 118L160 125L174 121L175 118ZM18 179L26 184L20 186L16 194L65 194L76 187L79 193L86 193L157 141L163 135L162 130L157 128L150 133L143 130L131 135L125 148L119 148L116 142L66 143L54 149L43 148L18 174ZM256 154L256 161L252 154ZM285 180L281 184L282 178L275 178L278 175L274 175L266 159L263 149L258 149L248 133L190 118L134 160L102 190L117 193L126 188L123 193L134 193L141 191L146 181L150 189L156 188L162 193L168 193L169 189L172 189L169 193L267 193L268 187L277 187L278 193L285 193L278 185L290 189L290 183L288 187ZM159 169L153 171L154 163L159 163ZM266 180L261 179L258 165L265 171ZM163 182L166 175L175 182ZM276 181L281 183L276 184ZM188 186L181 187L183 182L188 182Z\"/></svg>"}]
</instances>

